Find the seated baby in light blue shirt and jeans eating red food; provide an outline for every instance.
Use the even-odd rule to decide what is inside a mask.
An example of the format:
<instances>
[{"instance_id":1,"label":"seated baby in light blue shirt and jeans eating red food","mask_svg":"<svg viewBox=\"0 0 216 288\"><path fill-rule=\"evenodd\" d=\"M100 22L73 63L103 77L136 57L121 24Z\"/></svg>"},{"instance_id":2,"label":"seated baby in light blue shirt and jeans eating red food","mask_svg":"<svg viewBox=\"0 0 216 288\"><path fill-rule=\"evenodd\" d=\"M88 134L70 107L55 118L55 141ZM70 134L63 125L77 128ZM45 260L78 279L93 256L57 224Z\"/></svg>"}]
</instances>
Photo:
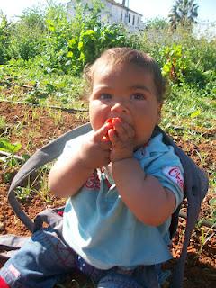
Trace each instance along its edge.
<instances>
[{"instance_id":1,"label":"seated baby in light blue shirt and jeans eating red food","mask_svg":"<svg viewBox=\"0 0 216 288\"><path fill-rule=\"evenodd\" d=\"M68 197L63 238L36 232L0 271L3 287L53 287L75 268L98 288L162 284L184 191L180 160L155 129L165 81L153 58L129 48L104 51L85 79L93 130L68 141L49 173L50 190Z\"/></svg>"}]
</instances>

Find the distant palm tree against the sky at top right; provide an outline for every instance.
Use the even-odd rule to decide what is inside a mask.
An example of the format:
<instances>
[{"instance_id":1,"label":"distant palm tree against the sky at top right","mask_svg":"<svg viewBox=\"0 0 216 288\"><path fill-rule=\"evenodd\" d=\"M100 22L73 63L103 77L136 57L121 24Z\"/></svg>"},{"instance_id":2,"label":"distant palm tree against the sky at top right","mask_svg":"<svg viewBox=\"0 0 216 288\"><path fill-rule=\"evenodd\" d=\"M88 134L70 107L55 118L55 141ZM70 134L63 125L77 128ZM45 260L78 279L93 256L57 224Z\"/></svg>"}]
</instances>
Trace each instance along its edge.
<instances>
[{"instance_id":1,"label":"distant palm tree against the sky at top right","mask_svg":"<svg viewBox=\"0 0 216 288\"><path fill-rule=\"evenodd\" d=\"M175 0L175 4L171 9L169 22L173 29L176 29L178 24L191 25L197 23L199 5L194 3L194 0Z\"/></svg>"}]
</instances>

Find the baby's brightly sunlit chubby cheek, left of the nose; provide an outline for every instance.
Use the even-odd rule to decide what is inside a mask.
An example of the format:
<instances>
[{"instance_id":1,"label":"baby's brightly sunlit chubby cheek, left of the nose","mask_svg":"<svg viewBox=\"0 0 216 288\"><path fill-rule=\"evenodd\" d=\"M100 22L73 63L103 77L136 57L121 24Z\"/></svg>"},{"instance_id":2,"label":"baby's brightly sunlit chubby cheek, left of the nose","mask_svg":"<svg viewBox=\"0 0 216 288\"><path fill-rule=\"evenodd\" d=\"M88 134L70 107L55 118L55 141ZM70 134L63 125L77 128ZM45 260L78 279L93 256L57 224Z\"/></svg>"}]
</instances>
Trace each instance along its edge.
<instances>
[{"instance_id":1,"label":"baby's brightly sunlit chubby cheek, left of the nose","mask_svg":"<svg viewBox=\"0 0 216 288\"><path fill-rule=\"evenodd\" d=\"M89 118L94 130L100 129L108 117L108 108L96 102L89 103Z\"/></svg>"}]
</instances>

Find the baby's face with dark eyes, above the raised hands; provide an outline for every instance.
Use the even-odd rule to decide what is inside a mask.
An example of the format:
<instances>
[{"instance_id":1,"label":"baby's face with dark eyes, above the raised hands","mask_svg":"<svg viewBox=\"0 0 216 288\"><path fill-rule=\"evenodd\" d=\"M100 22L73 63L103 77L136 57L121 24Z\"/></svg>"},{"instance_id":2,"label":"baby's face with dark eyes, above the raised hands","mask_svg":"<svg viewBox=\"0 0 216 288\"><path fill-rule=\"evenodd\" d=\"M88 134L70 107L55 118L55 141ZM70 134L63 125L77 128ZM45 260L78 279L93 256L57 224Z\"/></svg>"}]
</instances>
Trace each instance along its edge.
<instances>
[{"instance_id":1,"label":"baby's face with dark eyes, above the raised hands","mask_svg":"<svg viewBox=\"0 0 216 288\"><path fill-rule=\"evenodd\" d=\"M93 80L89 98L93 129L98 130L110 118L120 118L135 130L135 147L146 144L161 110L153 76L142 67L122 64L98 67Z\"/></svg>"}]
</instances>

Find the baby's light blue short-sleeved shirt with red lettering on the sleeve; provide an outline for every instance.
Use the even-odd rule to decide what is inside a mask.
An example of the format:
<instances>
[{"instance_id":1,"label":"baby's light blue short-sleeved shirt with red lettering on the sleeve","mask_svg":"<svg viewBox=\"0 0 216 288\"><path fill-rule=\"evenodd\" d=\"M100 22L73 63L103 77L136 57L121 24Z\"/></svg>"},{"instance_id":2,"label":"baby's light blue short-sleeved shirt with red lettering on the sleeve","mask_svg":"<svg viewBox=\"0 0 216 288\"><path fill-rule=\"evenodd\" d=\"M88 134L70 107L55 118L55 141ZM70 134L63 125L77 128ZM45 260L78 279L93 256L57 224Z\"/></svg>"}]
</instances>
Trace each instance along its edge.
<instances>
[{"instance_id":1,"label":"baby's light blue short-sleeved shirt with red lettering on the sleeve","mask_svg":"<svg viewBox=\"0 0 216 288\"><path fill-rule=\"evenodd\" d=\"M68 141L58 161L76 153L85 137ZM157 177L175 194L176 208L183 201L184 172L174 149L162 142L162 134L139 148L134 157L146 174ZM121 201L112 175L106 171L95 170L80 191L67 200L63 217L67 244L100 269L153 265L170 259L167 239L171 217L158 227L139 221Z\"/></svg>"}]
</instances>

